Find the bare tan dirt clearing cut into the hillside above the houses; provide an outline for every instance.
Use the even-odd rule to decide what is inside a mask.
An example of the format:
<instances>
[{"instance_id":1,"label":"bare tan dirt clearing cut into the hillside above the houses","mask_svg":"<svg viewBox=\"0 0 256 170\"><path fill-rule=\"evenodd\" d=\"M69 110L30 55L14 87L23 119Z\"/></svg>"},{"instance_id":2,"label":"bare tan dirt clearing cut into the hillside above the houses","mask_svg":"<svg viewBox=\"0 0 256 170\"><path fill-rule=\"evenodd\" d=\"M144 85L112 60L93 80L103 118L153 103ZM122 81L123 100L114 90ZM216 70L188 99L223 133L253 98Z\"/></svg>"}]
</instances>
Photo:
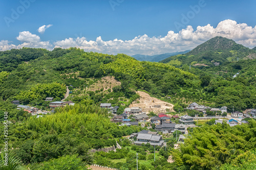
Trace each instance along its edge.
<instances>
[{"instance_id":1,"label":"bare tan dirt clearing cut into the hillside above the houses","mask_svg":"<svg viewBox=\"0 0 256 170\"><path fill-rule=\"evenodd\" d=\"M149 94L143 91L137 91L137 93L140 95L140 99L134 101L131 105L131 107L140 107L142 108L143 112L155 112L155 113L166 113L166 109L168 109L170 112L174 111L174 105L161 101L157 98L151 97ZM137 103L139 101L139 103ZM154 101L154 102L153 102Z\"/></svg>"}]
</instances>

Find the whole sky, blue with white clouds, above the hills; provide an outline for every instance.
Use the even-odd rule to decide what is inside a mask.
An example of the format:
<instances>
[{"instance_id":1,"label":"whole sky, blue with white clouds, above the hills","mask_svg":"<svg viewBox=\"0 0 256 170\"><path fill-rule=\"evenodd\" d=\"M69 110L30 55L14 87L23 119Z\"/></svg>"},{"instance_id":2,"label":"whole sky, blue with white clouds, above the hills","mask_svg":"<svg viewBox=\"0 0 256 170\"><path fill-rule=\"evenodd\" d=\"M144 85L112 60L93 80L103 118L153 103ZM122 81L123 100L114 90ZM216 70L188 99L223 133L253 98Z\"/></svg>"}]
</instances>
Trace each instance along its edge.
<instances>
[{"instance_id":1,"label":"whole sky, blue with white clouds, above the hills","mask_svg":"<svg viewBox=\"0 0 256 170\"><path fill-rule=\"evenodd\" d=\"M0 1L0 50L78 46L154 55L191 50L218 35L253 47L255 5L214 0ZM38 32L42 26L49 28Z\"/></svg>"}]
</instances>

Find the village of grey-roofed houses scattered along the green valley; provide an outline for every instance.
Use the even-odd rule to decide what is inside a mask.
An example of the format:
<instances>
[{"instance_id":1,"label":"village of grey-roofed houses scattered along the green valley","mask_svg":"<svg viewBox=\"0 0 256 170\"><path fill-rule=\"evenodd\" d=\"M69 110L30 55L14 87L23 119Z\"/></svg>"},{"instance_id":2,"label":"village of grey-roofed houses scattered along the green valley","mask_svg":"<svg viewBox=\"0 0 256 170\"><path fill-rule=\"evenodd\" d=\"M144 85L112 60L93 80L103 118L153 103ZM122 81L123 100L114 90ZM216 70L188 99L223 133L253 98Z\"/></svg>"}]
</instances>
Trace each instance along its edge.
<instances>
[{"instance_id":1,"label":"village of grey-roofed houses scattered along the green valley","mask_svg":"<svg viewBox=\"0 0 256 170\"><path fill-rule=\"evenodd\" d=\"M67 105L75 105L72 101L55 101L52 102L53 98L46 98L45 101L49 101L49 108L51 111L40 110L36 107L30 107L26 105L20 105L19 101L12 101L12 104L17 105L17 109L23 109L24 111L28 111L32 116L37 116L37 118L45 115L54 113L54 109L56 107L63 107ZM188 134L187 128L198 127L198 120L209 120L215 118L215 124L226 122L229 126L237 126L241 124L248 124L246 120L242 120L244 118L253 118L256 117L256 109L248 109L246 111L239 112L233 111L231 113L227 113L227 107L223 106L221 108L210 108L204 105L198 105L197 103L191 103L185 110L196 110L203 113L202 117L198 115L189 116L187 114L178 114L175 115L169 114L169 112L165 113L154 113L146 112L144 110L156 108L159 110L161 105L153 105L148 106L148 108L140 108L140 107L130 107L125 108L123 113L118 115L117 111L119 109L118 106L112 106L111 103L101 103L100 107L103 109L108 109L108 112L111 113L110 120L113 123L118 124L119 126L141 126L142 128L147 127L148 130L142 130L138 133L131 134L129 139L134 140L134 144L141 145L142 143L150 143L153 146L159 145L162 147L165 142L162 139L163 134L173 134L176 131L180 131L181 135L179 139L177 138L177 142L183 142L184 135ZM154 109L153 109L154 110ZM215 115L207 115L207 110L214 112ZM173 112L172 112L173 113ZM153 129L153 131L151 131ZM177 147L177 146L176 146Z\"/></svg>"}]
</instances>

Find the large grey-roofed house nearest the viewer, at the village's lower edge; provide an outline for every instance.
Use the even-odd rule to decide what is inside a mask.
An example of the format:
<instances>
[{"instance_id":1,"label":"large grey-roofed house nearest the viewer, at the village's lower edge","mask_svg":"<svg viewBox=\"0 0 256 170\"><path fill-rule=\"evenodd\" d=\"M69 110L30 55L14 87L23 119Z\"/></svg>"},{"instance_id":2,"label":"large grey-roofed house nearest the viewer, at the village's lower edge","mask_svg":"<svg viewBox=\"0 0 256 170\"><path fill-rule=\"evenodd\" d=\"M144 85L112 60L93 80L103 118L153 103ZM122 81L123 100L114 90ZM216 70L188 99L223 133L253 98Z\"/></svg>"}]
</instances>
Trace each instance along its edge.
<instances>
[{"instance_id":1,"label":"large grey-roofed house nearest the viewer, at the village's lower edge","mask_svg":"<svg viewBox=\"0 0 256 170\"><path fill-rule=\"evenodd\" d=\"M153 134L145 134L145 133L138 133L137 141L134 142L136 145L141 145L142 143L150 143L153 146L160 146L163 145L163 140L160 135L153 135Z\"/></svg>"}]
</instances>

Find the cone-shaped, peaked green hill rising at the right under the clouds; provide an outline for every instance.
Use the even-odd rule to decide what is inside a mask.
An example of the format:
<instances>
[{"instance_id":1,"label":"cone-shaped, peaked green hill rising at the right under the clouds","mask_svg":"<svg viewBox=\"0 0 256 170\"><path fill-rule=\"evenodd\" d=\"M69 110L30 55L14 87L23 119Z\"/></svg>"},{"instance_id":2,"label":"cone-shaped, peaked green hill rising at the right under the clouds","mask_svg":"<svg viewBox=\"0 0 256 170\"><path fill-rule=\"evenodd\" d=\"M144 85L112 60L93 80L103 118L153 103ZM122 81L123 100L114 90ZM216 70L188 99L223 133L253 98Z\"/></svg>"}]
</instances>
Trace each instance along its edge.
<instances>
[{"instance_id":1,"label":"cone-shaped, peaked green hill rising at the right under the clouds","mask_svg":"<svg viewBox=\"0 0 256 170\"><path fill-rule=\"evenodd\" d=\"M214 67L225 62L232 62L246 59L255 59L256 52L231 39L215 37L198 45L192 51L166 58L160 62L172 65L195 65Z\"/></svg>"}]
</instances>

